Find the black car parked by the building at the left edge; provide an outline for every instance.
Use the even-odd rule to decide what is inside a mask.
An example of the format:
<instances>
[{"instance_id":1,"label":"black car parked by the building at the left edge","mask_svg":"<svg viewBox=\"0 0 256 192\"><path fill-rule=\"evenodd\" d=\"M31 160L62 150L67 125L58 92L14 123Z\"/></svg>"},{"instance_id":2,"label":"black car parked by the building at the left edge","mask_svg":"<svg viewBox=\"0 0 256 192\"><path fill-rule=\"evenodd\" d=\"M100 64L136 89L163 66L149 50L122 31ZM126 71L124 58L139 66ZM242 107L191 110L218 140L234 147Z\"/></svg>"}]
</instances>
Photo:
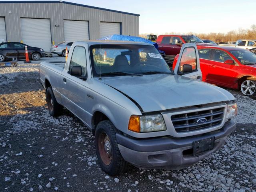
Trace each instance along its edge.
<instances>
[{"instance_id":1,"label":"black car parked by the building at the left edge","mask_svg":"<svg viewBox=\"0 0 256 192\"><path fill-rule=\"evenodd\" d=\"M7 42L0 44L0 62L5 60L12 60L12 58L24 59L26 44L20 42ZM28 46L28 57L32 60L40 60L45 56L43 49L38 47Z\"/></svg>"}]
</instances>

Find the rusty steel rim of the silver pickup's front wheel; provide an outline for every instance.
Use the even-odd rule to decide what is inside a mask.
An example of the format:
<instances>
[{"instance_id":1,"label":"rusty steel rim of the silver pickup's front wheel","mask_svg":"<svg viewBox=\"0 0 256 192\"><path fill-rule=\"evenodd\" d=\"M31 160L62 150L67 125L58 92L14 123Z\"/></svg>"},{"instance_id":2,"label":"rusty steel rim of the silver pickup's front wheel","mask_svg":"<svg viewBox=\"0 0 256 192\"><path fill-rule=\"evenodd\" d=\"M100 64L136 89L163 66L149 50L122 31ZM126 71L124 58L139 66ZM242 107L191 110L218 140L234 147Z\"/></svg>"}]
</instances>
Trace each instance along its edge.
<instances>
[{"instance_id":1,"label":"rusty steel rim of the silver pickup's front wheel","mask_svg":"<svg viewBox=\"0 0 256 192\"><path fill-rule=\"evenodd\" d=\"M109 165L112 161L112 147L108 135L103 132L98 138L100 158L104 164Z\"/></svg>"}]
</instances>

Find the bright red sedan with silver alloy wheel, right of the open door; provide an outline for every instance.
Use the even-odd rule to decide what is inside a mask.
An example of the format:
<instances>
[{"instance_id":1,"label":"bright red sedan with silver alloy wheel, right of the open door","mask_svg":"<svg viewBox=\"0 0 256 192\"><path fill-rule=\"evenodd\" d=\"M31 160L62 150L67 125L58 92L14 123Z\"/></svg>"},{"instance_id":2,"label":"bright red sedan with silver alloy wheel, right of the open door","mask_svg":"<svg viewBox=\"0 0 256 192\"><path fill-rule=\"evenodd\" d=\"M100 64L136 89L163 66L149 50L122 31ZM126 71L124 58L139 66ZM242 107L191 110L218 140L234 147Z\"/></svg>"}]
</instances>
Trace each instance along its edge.
<instances>
[{"instance_id":1,"label":"bright red sedan with silver alloy wheel, right of the open door","mask_svg":"<svg viewBox=\"0 0 256 192\"><path fill-rule=\"evenodd\" d=\"M233 46L198 47L198 54L203 81L256 98L256 54Z\"/></svg>"}]
</instances>

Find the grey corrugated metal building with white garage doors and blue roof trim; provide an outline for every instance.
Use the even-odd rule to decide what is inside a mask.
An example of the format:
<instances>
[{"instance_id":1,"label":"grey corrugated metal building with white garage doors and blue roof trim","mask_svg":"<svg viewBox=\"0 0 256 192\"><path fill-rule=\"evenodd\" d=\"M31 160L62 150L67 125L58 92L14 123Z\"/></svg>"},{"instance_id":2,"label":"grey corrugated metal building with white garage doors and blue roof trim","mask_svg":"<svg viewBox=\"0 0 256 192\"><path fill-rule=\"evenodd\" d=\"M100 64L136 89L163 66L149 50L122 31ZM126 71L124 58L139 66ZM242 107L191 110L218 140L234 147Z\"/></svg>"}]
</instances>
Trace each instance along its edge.
<instances>
[{"instance_id":1,"label":"grey corrugated metal building with white garage doors and blue roof trim","mask_svg":"<svg viewBox=\"0 0 256 192\"><path fill-rule=\"evenodd\" d=\"M62 41L138 36L139 16L64 1L0 1L0 40L49 51Z\"/></svg>"}]
</instances>

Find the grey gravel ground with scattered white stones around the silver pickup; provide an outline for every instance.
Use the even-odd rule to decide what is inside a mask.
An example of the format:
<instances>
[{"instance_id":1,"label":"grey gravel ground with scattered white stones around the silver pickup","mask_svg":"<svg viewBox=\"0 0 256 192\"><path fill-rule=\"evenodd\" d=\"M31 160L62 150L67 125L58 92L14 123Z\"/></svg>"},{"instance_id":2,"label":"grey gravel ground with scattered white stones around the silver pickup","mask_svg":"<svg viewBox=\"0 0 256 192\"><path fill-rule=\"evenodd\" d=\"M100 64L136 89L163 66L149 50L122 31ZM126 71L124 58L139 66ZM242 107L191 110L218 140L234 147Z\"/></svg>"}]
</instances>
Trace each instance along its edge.
<instances>
[{"instance_id":1,"label":"grey gravel ground with scattered white stones around the silver pickup","mask_svg":"<svg viewBox=\"0 0 256 192\"><path fill-rule=\"evenodd\" d=\"M55 60L58 58L54 58ZM62 58L63 59L63 58ZM230 90L237 129L214 154L183 170L121 176L100 168L94 136L67 110L48 114L38 64L0 68L0 191L256 191L256 100Z\"/></svg>"}]
</instances>

